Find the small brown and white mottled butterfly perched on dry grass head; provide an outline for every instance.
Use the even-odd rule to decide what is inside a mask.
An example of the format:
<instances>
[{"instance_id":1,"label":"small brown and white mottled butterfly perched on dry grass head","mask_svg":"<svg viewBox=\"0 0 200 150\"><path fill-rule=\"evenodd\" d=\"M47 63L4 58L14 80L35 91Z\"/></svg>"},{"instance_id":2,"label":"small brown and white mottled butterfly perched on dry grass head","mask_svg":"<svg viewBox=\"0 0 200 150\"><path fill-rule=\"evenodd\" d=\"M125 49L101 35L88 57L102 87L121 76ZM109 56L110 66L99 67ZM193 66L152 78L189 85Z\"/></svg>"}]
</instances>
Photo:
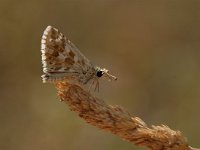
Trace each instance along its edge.
<instances>
[{"instance_id":1,"label":"small brown and white mottled butterfly perched on dry grass head","mask_svg":"<svg viewBox=\"0 0 200 150\"><path fill-rule=\"evenodd\" d=\"M105 68L93 65L78 48L58 29L48 26L41 40L43 83L68 82L71 84L95 84L99 89L99 78L117 80ZM90 87L91 87L90 86Z\"/></svg>"}]
</instances>

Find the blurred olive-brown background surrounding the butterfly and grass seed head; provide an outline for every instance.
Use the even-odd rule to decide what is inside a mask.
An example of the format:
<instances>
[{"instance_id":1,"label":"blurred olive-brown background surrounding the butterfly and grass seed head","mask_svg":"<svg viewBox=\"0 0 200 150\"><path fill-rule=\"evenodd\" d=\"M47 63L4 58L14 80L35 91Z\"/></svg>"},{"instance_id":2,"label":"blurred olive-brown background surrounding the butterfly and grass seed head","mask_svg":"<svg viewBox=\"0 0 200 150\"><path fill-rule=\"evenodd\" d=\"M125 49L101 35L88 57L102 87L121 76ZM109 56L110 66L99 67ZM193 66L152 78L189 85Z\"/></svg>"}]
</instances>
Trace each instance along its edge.
<instances>
[{"instance_id":1,"label":"blurred olive-brown background surrounding the butterfly and grass seed head","mask_svg":"<svg viewBox=\"0 0 200 150\"><path fill-rule=\"evenodd\" d=\"M144 149L85 123L42 83L48 25L118 77L98 97L200 147L199 0L0 0L0 149Z\"/></svg>"}]
</instances>

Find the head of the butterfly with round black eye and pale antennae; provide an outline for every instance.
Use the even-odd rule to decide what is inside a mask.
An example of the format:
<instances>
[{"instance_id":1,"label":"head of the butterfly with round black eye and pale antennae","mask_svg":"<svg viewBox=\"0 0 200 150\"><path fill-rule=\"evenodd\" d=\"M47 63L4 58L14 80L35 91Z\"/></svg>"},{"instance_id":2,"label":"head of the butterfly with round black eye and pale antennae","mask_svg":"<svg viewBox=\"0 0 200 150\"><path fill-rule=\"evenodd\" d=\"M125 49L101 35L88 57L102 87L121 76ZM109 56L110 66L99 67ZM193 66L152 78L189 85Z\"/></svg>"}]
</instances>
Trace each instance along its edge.
<instances>
[{"instance_id":1,"label":"head of the butterfly with round black eye and pale antennae","mask_svg":"<svg viewBox=\"0 0 200 150\"><path fill-rule=\"evenodd\" d=\"M105 76L105 77L107 77L110 81L111 81L111 80L117 80L117 77L115 77L115 76L109 74L109 71L108 71L107 69L105 69L105 68L102 69L102 68L96 67L95 70L96 70L96 76L97 76L98 78L100 78L100 77L102 77L102 76Z\"/></svg>"}]
</instances>

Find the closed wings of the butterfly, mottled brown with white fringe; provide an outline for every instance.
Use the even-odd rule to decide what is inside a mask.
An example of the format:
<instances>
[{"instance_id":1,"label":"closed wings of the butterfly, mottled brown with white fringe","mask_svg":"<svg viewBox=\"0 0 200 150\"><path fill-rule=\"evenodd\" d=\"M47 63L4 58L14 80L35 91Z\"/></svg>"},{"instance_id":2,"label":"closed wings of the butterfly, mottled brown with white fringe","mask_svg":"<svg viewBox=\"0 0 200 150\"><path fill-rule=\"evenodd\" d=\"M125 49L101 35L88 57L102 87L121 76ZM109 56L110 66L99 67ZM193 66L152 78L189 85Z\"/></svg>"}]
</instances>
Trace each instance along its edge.
<instances>
[{"instance_id":1,"label":"closed wings of the butterfly, mottled brown with white fringe","mask_svg":"<svg viewBox=\"0 0 200 150\"><path fill-rule=\"evenodd\" d=\"M43 82L62 80L91 67L89 60L58 29L48 26L41 40Z\"/></svg>"}]
</instances>

